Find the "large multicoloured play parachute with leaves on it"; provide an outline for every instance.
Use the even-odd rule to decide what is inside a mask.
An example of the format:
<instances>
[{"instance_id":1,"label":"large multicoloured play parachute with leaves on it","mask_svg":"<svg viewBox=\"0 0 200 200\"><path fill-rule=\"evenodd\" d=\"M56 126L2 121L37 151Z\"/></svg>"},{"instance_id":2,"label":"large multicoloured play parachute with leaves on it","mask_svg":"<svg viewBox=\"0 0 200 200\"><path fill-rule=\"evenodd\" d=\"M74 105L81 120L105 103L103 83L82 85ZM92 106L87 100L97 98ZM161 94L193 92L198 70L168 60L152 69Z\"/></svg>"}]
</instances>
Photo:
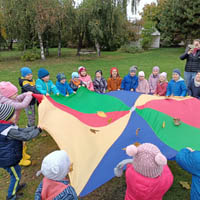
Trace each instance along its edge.
<instances>
[{"instance_id":1,"label":"large multicoloured play parachute with leaves on it","mask_svg":"<svg viewBox=\"0 0 200 200\"><path fill-rule=\"evenodd\" d=\"M127 158L127 145L153 143L168 159L183 147L200 149L200 101L195 98L80 88L69 97L43 97L39 125L69 154L70 181L80 196L114 177L114 167Z\"/></svg>"}]
</instances>

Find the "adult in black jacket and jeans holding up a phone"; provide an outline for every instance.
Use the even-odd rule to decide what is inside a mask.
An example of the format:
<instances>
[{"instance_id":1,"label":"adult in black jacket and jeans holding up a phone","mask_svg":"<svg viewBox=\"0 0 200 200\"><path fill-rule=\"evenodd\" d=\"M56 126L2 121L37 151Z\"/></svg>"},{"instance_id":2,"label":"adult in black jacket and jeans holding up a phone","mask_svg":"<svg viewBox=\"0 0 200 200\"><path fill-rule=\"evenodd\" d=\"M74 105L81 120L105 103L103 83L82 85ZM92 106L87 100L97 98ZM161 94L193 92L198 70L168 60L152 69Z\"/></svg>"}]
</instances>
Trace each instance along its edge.
<instances>
[{"instance_id":1,"label":"adult in black jacket and jeans holding up a phone","mask_svg":"<svg viewBox=\"0 0 200 200\"><path fill-rule=\"evenodd\" d=\"M195 77L197 71L200 71L200 40L193 41L193 45L189 45L186 52L180 56L181 60L186 59L184 78L186 86L190 84Z\"/></svg>"}]
</instances>

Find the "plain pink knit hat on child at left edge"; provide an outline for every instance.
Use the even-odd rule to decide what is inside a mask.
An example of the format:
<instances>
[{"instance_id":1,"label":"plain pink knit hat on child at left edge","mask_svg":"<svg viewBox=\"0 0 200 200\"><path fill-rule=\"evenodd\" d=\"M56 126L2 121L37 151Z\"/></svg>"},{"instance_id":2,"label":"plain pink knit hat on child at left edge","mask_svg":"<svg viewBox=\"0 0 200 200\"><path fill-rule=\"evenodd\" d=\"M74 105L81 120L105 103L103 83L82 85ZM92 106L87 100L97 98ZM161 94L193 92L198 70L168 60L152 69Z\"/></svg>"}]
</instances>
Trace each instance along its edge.
<instances>
[{"instance_id":1,"label":"plain pink knit hat on child at left edge","mask_svg":"<svg viewBox=\"0 0 200 200\"><path fill-rule=\"evenodd\" d=\"M18 89L11 82L0 82L0 94L9 98L15 95Z\"/></svg>"}]
</instances>

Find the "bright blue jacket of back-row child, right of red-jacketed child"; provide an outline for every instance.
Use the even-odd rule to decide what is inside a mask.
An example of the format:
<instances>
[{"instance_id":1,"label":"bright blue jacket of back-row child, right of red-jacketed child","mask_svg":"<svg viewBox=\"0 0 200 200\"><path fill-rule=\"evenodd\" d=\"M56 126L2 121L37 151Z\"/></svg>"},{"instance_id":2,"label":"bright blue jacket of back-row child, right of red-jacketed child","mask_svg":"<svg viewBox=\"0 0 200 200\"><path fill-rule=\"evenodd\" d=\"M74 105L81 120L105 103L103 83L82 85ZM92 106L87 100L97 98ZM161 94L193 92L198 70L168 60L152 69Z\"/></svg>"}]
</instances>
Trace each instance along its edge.
<instances>
[{"instance_id":1,"label":"bright blue jacket of back-row child, right of red-jacketed child","mask_svg":"<svg viewBox=\"0 0 200 200\"><path fill-rule=\"evenodd\" d=\"M166 96L182 96L185 97L187 94L187 88L185 85L185 81L180 78L178 81L171 80L167 86Z\"/></svg>"}]
</instances>

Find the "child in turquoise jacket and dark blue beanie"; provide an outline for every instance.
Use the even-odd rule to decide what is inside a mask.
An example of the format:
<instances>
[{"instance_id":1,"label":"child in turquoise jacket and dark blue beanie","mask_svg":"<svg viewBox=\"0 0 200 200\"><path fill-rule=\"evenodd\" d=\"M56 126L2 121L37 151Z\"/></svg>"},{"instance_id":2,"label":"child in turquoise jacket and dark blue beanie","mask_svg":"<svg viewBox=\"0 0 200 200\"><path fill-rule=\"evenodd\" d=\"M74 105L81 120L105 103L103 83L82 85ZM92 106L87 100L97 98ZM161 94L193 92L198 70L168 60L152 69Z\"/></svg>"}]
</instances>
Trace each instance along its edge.
<instances>
[{"instance_id":1,"label":"child in turquoise jacket and dark blue beanie","mask_svg":"<svg viewBox=\"0 0 200 200\"><path fill-rule=\"evenodd\" d=\"M51 93L59 95L59 91L51 80L49 80L49 72L40 68L38 70L38 79L36 81L36 89L40 94L49 96Z\"/></svg>"}]
</instances>

